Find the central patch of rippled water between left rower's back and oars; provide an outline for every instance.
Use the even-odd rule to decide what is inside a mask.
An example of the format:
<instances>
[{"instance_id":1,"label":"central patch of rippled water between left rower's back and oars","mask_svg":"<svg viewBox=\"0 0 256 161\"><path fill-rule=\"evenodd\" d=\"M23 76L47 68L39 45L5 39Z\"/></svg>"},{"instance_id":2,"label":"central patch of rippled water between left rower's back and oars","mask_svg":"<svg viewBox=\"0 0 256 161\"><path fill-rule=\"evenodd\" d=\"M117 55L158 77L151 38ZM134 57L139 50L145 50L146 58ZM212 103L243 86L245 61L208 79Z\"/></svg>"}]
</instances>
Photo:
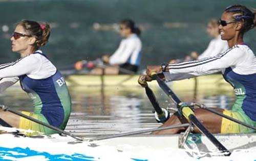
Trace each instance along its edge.
<instances>
[{"instance_id":1,"label":"central patch of rippled water between left rower's back and oars","mask_svg":"<svg viewBox=\"0 0 256 161\"><path fill-rule=\"evenodd\" d=\"M79 135L104 135L156 127L144 90L71 87L73 109L67 130Z\"/></svg>"}]
</instances>

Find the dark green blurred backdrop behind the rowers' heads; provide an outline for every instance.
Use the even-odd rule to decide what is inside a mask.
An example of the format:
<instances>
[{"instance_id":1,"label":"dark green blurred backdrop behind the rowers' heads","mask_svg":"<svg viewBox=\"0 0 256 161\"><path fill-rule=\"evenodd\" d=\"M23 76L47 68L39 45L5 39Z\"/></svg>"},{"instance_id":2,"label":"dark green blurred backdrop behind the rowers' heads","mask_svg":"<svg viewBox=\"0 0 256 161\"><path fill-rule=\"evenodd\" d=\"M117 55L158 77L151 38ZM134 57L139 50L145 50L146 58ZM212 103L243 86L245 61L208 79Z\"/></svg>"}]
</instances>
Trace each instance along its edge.
<instances>
[{"instance_id":1,"label":"dark green blurred backdrop behind the rowers' heads","mask_svg":"<svg viewBox=\"0 0 256 161\"><path fill-rule=\"evenodd\" d=\"M61 67L112 54L121 39L118 22L132 18L142 28L141 68L159 64L191 51L203 52L211 39L205 32L207 21L219 18L233 4L256 8L255 0L0 0L0 63L18 57L11 52L9 38L20 19L51 24L49 43L43 50ZM256 52L256 30L247 33L245 41Z\"/></svg>"}]
</instances>

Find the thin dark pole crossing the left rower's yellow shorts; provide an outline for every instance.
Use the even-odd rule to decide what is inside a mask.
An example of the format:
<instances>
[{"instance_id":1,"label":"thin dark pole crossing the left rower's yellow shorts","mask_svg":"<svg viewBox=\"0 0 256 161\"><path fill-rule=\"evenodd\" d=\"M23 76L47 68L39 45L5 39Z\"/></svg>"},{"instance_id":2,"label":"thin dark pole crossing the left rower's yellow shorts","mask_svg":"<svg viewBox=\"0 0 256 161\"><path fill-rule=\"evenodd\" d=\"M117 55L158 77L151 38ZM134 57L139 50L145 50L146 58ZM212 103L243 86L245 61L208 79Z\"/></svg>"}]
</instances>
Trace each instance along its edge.
<instances>
[{"instance_id":1,"label":"thin dark pole crossing the left rower's yellow shorts","mask_svg":"<svg viewBox=\"0 0 256 161\"><path fill-rule=\"evenodd\" d=\"M33 121L33 122L37 123L37 124L40 124L40 125L43 125L43 126L46 126L46 127L50 128L50 129L53 129L53 130L57 131L58 133L65 134L65 135L69 135L69 136L73 137L74 139L76 139L76 140L78 140L78 141L83 141L83 139L80 138L80 137L77 137L77 136L75 136L75 135L73 135L73 134L71 134L71 133L69 133L69 132L67 132L67 131L61 130L61 129L55 127L55 126L49 125L49 124L47 124L47 123L44 123L44 122L41 122L41 121L39 121L39 120L36 120L36 119L34 119L34 118L32 118L32 117L29 117L29 116L27 116L26 114L23 114L22 112L19 112L19 111L10 109L9 107L7 107L7 106L5 106L5 105L0 105L0 109L2 109L2 110L4 110L4 111L9 111L9 112L14 113L14 114L17 114L17 115L20 116L20 117L26 118L26 119L28 119L28 120L30 120L30 121Z\"/></svg>"}]
</instances>

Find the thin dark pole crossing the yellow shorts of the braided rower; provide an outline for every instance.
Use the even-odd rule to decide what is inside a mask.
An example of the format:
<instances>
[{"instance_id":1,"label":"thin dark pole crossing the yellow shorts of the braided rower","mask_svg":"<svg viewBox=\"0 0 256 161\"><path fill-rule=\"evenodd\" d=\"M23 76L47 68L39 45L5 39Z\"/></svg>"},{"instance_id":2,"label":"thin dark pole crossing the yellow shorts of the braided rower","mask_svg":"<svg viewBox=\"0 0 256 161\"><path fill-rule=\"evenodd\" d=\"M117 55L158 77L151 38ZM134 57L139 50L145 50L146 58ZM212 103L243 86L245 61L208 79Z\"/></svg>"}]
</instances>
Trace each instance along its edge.
<instances>
[{"instance_id":1,"label":"thin dark pole crossing the yellow shorts of the braided rower","mask_svg":"<svg viewBox=\"0 0 256 161\"><path fill-rule=\"evenodd\" d=\"M214 109L212 109L212 108L208 108L208 107L206 107L205 105L202 105L202 104L194 104L194 105L196 105L196 106L198 106L198 107L200 107L200 108L203 108L203 109L205 109L205 110L207 110L207 111L210 111L210 112L212 112L212 113L215 113L215 114L217 114L217 115L219 115L219 116L221 116L221 117L223 117L223 118L225 118L225 119L228 119L228 120L230 120L230 121L233 121L233 122L238 123L238 124L240 124L240 125L243 125L243 126L245 126L245 127L248 127L248 128L253 129L253 130L256 130L256 127L254 127L254 126L251 126L251 125L249 125L249 124L246 124L246 123L244 123L244 122L242 122L242 121L240 121L240 120L231 118L231 117L227 116L226 114L223 114L223 113L221 113L221 112L219 112L219 111L216 111L216 110L214 110Z\"/></svg>"}]
</instances>

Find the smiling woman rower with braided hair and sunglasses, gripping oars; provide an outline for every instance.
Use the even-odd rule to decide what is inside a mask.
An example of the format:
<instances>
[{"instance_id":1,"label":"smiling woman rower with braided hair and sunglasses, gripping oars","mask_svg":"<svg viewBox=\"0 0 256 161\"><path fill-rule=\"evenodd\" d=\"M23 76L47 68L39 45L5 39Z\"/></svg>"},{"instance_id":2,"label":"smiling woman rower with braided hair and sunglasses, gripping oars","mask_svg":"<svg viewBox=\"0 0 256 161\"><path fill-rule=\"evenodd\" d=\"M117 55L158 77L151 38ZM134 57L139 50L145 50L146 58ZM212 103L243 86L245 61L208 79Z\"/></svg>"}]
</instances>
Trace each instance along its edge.
<instances>
[{"instance_id":1,"label":"smiling woman rower with braided hair and sunglasses, gripping oars","mask_svg":"<svg viewBox=\"0 0 256 161\"><path fill-rule=\"evenodd\" d=\"M145 80L153 80L152 72L160 73L166 81L222 72L224 79L233 87L237 100L231 110L214 109L256 127L256 57L243 40L244 34L255 26L255 13L247 7L242 5L227 7L222 13L219 29L221 38L228 41L228 50L216 56L195 61L167 66L147 66L147 75L141 75L139 83L144 85ZM183 105L185 103L181 104ZM202 108L195 109L195 114L212 133L255 132ZM181 122L177 116L173 115L163 124L163 127L175 124L181 124ZM154 134L173 134L180 130L182 129L176 128L157 131ZM195 132L200 131L195 129Z\"/></svg>"}]
</instances>

